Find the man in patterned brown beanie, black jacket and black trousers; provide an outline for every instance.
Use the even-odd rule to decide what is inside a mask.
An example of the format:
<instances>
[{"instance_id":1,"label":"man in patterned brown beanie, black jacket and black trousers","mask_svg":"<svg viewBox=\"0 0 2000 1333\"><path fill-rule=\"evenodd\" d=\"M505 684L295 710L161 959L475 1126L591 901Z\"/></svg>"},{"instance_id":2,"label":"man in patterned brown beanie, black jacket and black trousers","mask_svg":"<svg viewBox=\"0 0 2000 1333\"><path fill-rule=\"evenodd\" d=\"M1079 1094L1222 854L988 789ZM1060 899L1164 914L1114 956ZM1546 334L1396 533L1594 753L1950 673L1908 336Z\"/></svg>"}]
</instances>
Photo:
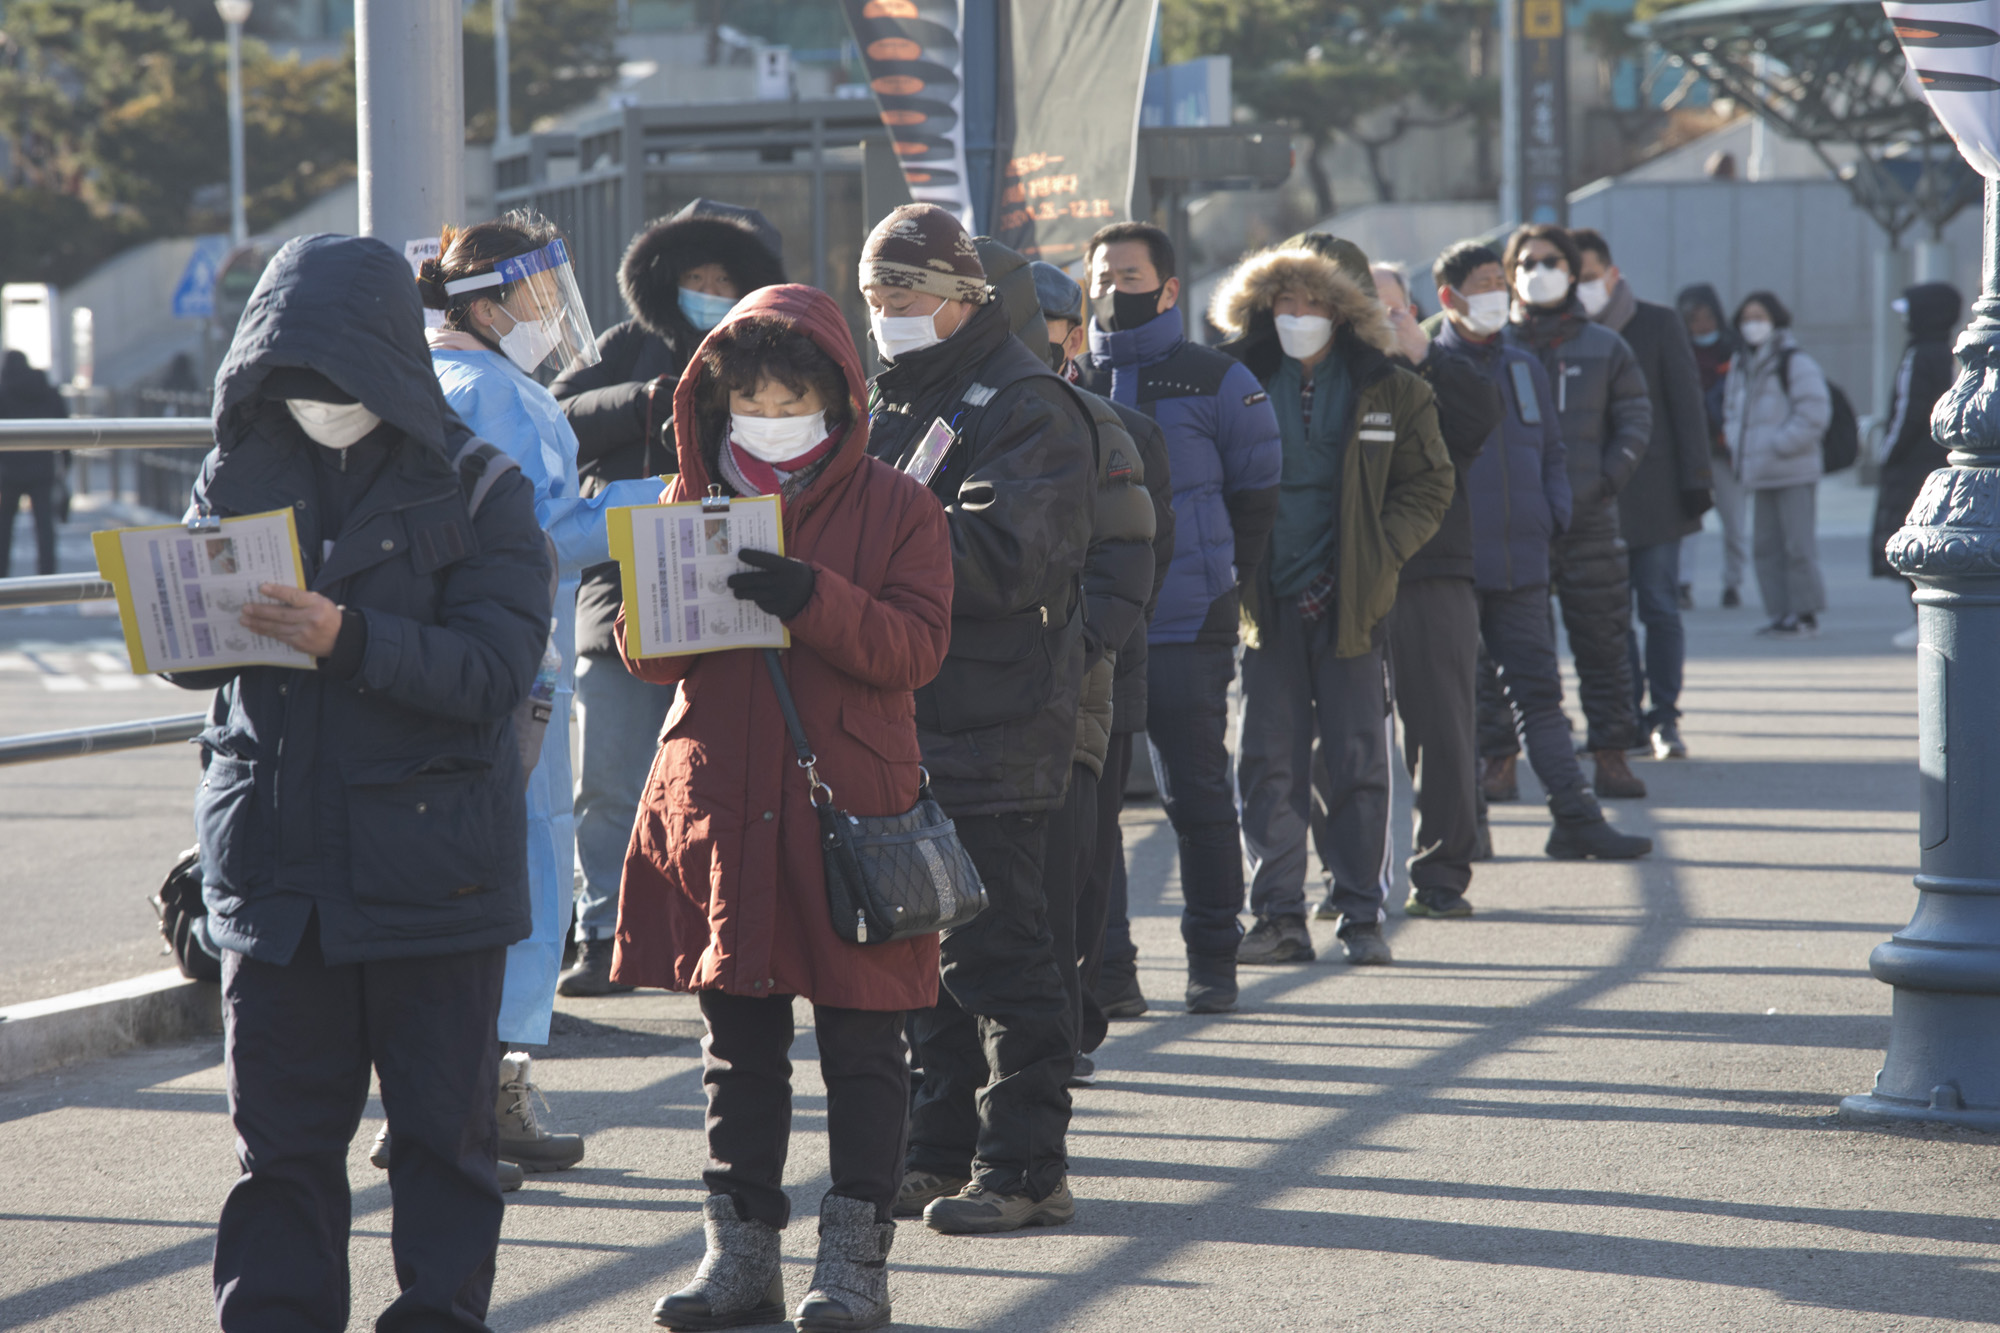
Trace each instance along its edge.
<instances>
[{"instance_id":1,"label":"man in patterned brown beanie, black jacket and black trousers","mask_svg":"<svg viewBox=\"0 0 2000 1333\"><path fill-rule=\"evenodd\" d=\"M896 1213L944 1233L1058 1225L1076 1213L1064 1149L1076 1019L1042 873L1076 751L1092 426L1012 334L944 208L882 218L860 286L888 366L870 386L868 450L924 482L950 520L952 650L916 695L916 731L990 903L944 937L938 1003L910 1025L924 1077Z\"/></svg>"}]
</instances>

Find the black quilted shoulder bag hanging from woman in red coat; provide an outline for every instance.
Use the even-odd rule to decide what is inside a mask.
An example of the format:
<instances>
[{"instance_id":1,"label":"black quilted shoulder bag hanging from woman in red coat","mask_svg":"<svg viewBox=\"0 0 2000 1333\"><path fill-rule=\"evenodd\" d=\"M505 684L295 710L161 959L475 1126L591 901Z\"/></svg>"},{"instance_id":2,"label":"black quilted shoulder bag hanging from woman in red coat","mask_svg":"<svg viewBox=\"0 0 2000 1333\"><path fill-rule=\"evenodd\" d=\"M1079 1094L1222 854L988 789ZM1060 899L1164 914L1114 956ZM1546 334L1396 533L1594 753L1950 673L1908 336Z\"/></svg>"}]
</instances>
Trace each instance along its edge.
<instances>
[{"instance_id":1,"label":"black quilted shoulder bag hanging from woman in red coat","mask_svg":"<svg viewBox=\"0 0 2000 1333\"><path fill-rule=\"evenodd\" d=\"M848 815L838 809L834 791L820 781L820 761L806 741L774 648L764 650L764 664L778 691L798 767L812 785L834 933L854 945L886 945L962 927L986 911L986 885L972 869L958 829L932 799L930 775L924 775L916 805L902 815Z\"/></svg>"}]
</instances>

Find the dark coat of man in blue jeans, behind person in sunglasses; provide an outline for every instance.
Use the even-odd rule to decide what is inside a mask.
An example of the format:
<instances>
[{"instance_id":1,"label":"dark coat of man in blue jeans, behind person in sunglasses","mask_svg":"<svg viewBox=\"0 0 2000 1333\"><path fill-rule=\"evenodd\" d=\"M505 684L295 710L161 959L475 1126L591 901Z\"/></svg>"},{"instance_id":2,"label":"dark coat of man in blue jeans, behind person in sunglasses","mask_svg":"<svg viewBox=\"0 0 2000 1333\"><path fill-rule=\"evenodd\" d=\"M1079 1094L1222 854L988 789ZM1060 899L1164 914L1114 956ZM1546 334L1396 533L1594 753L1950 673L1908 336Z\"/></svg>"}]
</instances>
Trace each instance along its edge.
<instances>
[{"instance_id":1,"label":"dark coat of man in blue jeans, behind person in sunglasses","mask_svg":"<svg viewBox=\"0 0 2000 1333\"><path fill-rule=\"evenodd\" d=\"M1652 398L1652 442L1618 488L1618 532L1626 546L1664 546L1698 532L1714 478L1708 470L1708 408L1702 368L1680 314L1640 300L1624 278L1598 322L1626 340Z\"/></svg>"}]
</instances>

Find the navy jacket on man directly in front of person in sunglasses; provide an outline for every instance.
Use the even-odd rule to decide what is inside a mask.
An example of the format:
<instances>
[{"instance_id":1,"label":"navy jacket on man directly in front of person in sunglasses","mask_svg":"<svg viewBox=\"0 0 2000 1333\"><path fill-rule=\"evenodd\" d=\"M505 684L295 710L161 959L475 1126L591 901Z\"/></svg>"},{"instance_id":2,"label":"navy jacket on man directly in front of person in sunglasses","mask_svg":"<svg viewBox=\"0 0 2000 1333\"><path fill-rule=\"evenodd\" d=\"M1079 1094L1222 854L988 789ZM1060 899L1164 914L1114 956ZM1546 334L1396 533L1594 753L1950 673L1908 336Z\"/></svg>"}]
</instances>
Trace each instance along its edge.
<instances>
[{"instance_id":1,"label":"navy jacket on man directly in front of person in sunglasses","mask_svg":"<svg viewBox=\"0 0 2000 1333\"><path fill-rule=\"evenodd\" d=\"M1466 338L1452 320L1444 320L1436 338L1500 388L1500 424L1464 476L1472 502L1472 582L1486 592L1544 584L1548 544L1570 526L1570 472L1548 372L1536 356L1498 336ZM1534 398L1528 404L1524 384Z\"/></svg>"}]
</instances>

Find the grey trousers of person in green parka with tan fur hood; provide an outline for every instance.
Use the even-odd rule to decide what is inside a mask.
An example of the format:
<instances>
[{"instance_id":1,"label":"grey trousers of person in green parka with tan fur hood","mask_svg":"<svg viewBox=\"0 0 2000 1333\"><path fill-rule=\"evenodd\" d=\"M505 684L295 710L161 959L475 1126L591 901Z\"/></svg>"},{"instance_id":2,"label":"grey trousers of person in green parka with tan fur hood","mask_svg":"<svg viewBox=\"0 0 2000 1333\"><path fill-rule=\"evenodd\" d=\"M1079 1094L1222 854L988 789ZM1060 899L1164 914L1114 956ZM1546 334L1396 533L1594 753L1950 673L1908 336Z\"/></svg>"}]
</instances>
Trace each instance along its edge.
<instances>
[{"instance_id":1,"label":"grey trousers of person in green parka with tan fur hood","mask_svg":"<svg viewBox=\"0 0 2000 1333\"><path fill-rule=\"evenodd\" d=\"M1250 911L1306 915L1312 741L1326 757L1326 843L1334 909L1380 923L1388 897L1388 664L1382 630L1360 656L1334 656L1334 608L1318 620L1274 598L1262 646L1244 648L1236 791L1250 853Z\"/></svg>"}]
</instances>

